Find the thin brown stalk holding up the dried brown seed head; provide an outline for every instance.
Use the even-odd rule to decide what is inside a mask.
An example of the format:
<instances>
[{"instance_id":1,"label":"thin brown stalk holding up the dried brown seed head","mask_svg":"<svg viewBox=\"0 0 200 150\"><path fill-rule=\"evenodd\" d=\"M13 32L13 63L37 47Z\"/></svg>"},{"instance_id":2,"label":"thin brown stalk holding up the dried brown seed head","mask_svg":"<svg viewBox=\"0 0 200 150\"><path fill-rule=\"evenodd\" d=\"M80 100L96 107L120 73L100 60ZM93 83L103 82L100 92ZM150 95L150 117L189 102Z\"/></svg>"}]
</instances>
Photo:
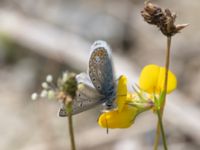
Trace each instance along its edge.
<instances>
[{"instance_id":1,"label":"thin brown stalk holding up the dried brown seed head","mask_svg":"<svg viewBox=\"0 0 200 150\"><path fill-rule=\"evenodd\" d=\"M163 125L161 125L162 123L162 116L163 116L163 112L164 112L164 107L165 107L165 101L166 101L166 93L167 93L167 81L168 81L168 71L169 71L169 64L170 64L170 47L171 47L171 36L167 37L167 49L166 49L166 59L165 59L165 80L164 80L164 96L163 96L163 100L162 104L160 106L160 110L159 110L159 114L160 114L160 119L158 118L158 122L157 122L157 129L156 129L156 136L154 139L154 150L158 149L158 144L159 144L159 139L160 139L160 130L161 130L161 126L163 127ZM164 133L164 132L163 132ZM162 136L162 139L165 136ZM163 139L163 143L166 143L166 138Z\"/></svg>"}]
</instances>

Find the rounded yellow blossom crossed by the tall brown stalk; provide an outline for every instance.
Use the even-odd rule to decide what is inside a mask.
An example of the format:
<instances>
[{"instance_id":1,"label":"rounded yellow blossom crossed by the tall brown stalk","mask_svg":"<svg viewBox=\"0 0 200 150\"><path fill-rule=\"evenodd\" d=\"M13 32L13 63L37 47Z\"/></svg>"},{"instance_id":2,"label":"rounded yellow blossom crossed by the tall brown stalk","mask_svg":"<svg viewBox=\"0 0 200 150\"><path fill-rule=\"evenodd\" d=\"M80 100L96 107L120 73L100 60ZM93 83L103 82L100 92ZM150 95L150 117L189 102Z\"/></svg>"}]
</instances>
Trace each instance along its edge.
<instances>
[{"instance_id":1,"label":"rounded yellow blossom crossed by the tall brown stalk","mask_svg":"<svg viewBox=\"0 0 200 150\"><path fill-rule=\"evenodd\" d=\"M160 94L164 89L165 80L165 68L157 65L147 65L143 68L140 79L139 87L149 93ZM169 70L168 71L168 83L167 83L167 93L172 92L176 89L177 80L176 76Z\"/></svg>"}]
</instances>

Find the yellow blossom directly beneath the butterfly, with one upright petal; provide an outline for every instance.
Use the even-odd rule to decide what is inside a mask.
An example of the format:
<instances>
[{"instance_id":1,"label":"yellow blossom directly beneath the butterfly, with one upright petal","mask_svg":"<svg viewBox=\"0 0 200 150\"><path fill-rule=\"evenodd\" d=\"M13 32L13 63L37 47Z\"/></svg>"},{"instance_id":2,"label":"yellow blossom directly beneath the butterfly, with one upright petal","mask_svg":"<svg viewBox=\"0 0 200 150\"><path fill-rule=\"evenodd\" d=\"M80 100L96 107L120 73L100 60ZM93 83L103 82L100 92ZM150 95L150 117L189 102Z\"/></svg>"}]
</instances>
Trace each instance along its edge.
<instances>
[{"instance_id":1,"label":"yellow blossom directly beneath the butterfly, with one upright petal","mask_svg":"<svg viewBox=\"0 0 200 150\"><path fill-rule=\"evenodd\" d=\"M132 94L127 90L127 78L121 76L117 88L117 108L104 112L98 119L98 124L103 128L128 128L137 115L138 108L128 105L133 100Z\"/></svg>"}]
</instances>

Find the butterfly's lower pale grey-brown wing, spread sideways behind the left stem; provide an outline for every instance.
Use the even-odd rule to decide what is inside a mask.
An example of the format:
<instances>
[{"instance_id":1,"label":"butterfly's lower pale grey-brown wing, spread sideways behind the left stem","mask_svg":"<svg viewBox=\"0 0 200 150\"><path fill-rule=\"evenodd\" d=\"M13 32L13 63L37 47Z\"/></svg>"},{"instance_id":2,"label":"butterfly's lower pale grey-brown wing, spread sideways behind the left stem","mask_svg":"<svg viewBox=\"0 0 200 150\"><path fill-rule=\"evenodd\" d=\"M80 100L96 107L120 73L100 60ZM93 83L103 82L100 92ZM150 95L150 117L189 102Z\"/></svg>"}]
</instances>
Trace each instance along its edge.
<instances>
[{"instance_id":1,"label":"butterfly's lower pale grey-brown wing, spread sideways behind the left stem","mask_svg":"<svg viewBox=\"0 0 200 150\"><path fill-rule=\"evenodd\" d=\"M95 89L89 79L89 76L86 73L77 75L76 79L78 82L78 90L76 92L75 99L72 101L73 115L105 102L105 97ZM64 103L61 104L59 116L67 116L67 111Z\"/></svg>"}]
</instances>

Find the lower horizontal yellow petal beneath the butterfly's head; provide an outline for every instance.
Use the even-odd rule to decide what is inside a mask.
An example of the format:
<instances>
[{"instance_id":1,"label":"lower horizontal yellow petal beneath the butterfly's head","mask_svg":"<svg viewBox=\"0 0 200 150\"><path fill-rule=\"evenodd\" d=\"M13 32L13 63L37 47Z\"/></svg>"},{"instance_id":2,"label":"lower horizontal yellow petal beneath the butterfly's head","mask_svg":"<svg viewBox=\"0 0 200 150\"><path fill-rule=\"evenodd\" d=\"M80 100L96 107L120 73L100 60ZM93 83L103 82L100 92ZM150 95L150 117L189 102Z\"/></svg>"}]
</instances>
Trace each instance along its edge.
<instances>
[{"instance_id":1,"label":"lower horizontal yellow petal beneath the butterfly's head","mask_svg":"<svg viewBox=\"0 0 200 150\"><path fill-rule=\"evenodd\" d=\"M137 108L125 106L121 112L113 110L101 114L98 124L103 128L128 128L134 123L136 115Z\"/></svg>"}]
</instances>

